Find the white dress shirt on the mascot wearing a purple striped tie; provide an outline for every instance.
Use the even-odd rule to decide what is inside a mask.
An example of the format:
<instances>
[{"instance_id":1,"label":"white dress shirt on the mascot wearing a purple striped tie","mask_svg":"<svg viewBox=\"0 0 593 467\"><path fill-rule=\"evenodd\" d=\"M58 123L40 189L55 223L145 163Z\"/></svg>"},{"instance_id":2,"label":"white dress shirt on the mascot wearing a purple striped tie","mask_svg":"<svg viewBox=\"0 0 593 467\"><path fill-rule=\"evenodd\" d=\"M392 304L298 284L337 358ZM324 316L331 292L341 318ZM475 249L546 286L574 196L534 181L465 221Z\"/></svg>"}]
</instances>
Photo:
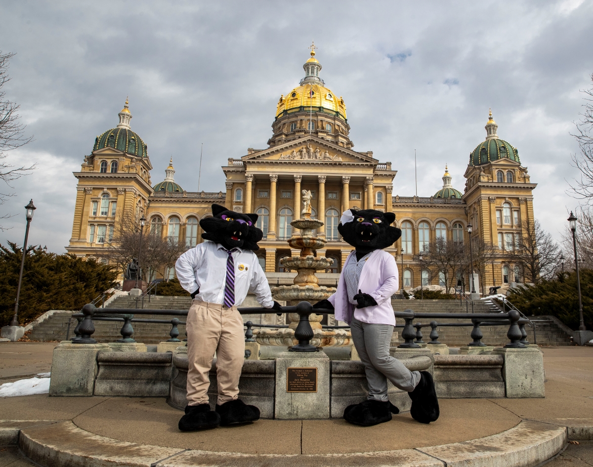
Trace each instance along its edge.
<instances>
[{"instance_id":1,"label":"white dress shirt on the mascot wearing a purple striped tie","mask_svg":"<svg viewBox=\"0 0 593 467\"><path fill-rule=\"evenodd\" d=\"M243 303L247 292L253 292L264 308L272 308L274 302L266 274L256 254L251 250L232 252L235 264L235 305ZM227 279L228 252L221 244L206 240L182 254L175 264L177 279L187 292L200 292L196 299L202 302L224 303L224 288Z\"/></svg>"}]
</instances>

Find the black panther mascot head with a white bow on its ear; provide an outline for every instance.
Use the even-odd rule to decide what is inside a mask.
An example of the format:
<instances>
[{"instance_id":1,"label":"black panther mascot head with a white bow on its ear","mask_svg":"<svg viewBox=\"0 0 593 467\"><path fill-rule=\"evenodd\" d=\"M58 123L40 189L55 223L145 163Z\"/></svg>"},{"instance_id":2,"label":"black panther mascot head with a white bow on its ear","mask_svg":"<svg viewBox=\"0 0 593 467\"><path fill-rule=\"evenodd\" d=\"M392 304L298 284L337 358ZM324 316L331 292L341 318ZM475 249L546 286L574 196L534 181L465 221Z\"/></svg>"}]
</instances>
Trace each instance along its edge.
<instances>
[{"instance_id":1,"label":"black panther mascot head with a white bow on its ear","mask_svg":"<svg viewBox=\"0 0 593 467\"><path fill-rule=\"evenodd\" d=\"M391 227L396 220L393 212L374 209L348 211L342 216L344 223L340 222L337 230L357 251L382 250L393 245L401 236L400 229Z\"/></svg>"}]
</instances>

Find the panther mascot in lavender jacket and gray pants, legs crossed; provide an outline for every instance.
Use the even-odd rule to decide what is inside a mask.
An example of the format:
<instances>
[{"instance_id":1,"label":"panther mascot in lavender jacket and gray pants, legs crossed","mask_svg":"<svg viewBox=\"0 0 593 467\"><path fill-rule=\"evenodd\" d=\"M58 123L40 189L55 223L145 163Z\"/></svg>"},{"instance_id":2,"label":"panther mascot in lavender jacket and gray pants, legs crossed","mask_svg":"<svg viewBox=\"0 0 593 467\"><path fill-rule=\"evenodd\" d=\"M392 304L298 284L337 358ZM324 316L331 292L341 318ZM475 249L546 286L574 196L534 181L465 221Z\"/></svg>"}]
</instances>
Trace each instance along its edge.
<instances>
[{"instance_id":1,"label":"panther mascot in lavender jacket and gray pants, legs crossed","mask_svg":"<svg viewBox=\"0 0 593 467\"><path fill-rule=\"evenodd\" d=\"M391 226L394 213L374 209L346 210L337 227L340 235L356 248L340 274L337 292L329 299L315 303L313 308L334 308L336 319L346 321L368 382L368 398L350 405L344 418L363 426L391 420L398 408L387 396L387 380L412 399L410 414L420 423L431 423L439 417L435 384L428 372L410 372L399 360L390 356L389 346L396 319L391 295L398 289L397 264L390 247L401 236Z\"/></svg>"}]
</instances>

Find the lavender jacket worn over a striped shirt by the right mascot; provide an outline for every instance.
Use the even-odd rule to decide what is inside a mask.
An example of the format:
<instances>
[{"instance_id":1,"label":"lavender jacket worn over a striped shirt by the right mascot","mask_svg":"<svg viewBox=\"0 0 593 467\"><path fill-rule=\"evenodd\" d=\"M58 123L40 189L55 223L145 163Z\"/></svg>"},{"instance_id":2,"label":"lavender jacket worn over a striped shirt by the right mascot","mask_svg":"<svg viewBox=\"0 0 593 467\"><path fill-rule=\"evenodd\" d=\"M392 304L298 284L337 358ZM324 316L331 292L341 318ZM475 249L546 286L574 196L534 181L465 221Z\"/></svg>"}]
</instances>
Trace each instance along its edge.
<instances>
[{"instance_id":1,"label":"lavender jacket worn over a striped shirt by the right mascot","mask_svg":"<svg viewBox=\"0 0 593 467\"><path fill-rule=\"evenodd\" d=\"M346 263L350 260L356 251L352 251L346 258ZM344 263L346 265L346 263ZM346 290L346 280L344 273L340 274L340 280L337 284L337 292L328 300L336 310L336 320L345 321L347 324L352 322L354 316L358 321L370 324L396 324L396 318L393 315L391 306L391 295L397 292L399 276L397 273L396 259L384 250L375 250L366 260L362 267L361 277L358 280L358 288L362 293L368 293L377 302L376 306L367 306L366 308L355 308L348 301Z\"/></svg>"}]
</instances>

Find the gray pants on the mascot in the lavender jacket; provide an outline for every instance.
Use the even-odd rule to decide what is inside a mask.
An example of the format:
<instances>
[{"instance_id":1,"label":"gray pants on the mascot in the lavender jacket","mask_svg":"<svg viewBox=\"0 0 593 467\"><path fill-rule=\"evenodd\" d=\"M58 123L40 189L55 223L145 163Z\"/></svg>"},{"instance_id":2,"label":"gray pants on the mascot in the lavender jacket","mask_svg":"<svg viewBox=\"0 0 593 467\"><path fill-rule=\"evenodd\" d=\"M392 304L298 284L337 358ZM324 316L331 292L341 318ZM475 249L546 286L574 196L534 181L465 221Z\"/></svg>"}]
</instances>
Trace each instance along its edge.
<instances>
[{"instance_id":1,"label":"gray pants on the mascot in the lavender jacket","mask_svg":"<svg viewBox=\"0 0 593 467\"><path fill-rule=\"evenodd\" d=\"M412 392L420 381L420 372L410 372L403 363L389 354L393 326L368 324L352 318L350 331L361 362L365 364L369 399L388 401L387 380L403 391Z\"/></svg>"}]
</instances>

